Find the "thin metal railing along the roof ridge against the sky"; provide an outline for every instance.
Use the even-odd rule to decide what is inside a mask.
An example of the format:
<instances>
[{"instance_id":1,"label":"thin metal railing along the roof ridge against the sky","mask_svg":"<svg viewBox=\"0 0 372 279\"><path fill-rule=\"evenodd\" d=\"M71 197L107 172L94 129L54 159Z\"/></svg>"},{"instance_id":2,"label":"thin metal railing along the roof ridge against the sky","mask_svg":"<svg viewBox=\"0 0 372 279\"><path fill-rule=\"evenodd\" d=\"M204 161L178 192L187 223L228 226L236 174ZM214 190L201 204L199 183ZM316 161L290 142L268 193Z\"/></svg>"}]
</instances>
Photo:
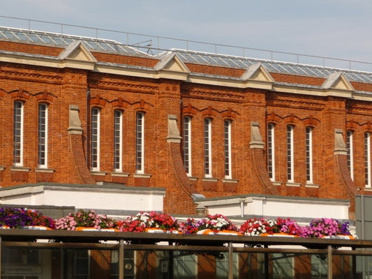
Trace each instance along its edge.
<instances>
[{"instance_id":1,"label":"thin metal railing along the roof ridge against the sky","mask_svg":"<svg viewBox=\"0 0 372 279\"><path fill-rule=\"evenodd\" d=\"M0 15L0 25L4 27L27 29L29 31L38 30L53 32L62 37L67 34L74 34L78 36L96 38L96 40L105 38L105 40L114 40L117 43L130 45L142 50L142 52L147 52L148 54L153 55L157 55L165 50L181 49L186 51L193 50L198 52L207 52L210 54L241 56L243 58L257 58L267 61L285 61L289 63L321 66L327 68L341 68L345 70L372 72L372 63L367 61L338 59L327 56L314 56L292 52L278 52L254 47L239 47L235 45L206 43L197 40L151 36L142 33L84 27L75 24L62 24L57 22L47 22L43 20L31 20Z\"/></svg>"}]
</instances>

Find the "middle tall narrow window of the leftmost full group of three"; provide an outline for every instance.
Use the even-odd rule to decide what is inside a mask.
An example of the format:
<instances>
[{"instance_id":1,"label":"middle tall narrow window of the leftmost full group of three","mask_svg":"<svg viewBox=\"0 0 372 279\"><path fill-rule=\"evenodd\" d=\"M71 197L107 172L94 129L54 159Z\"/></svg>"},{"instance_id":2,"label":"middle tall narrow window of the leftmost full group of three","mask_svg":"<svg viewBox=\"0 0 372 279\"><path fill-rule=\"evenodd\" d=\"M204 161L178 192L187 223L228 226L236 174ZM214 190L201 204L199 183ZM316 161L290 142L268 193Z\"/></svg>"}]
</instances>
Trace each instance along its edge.
<instances>
[{"instance_id":1,"label":"middle tall narrow window of the leftmost full group of three","mask_svg":"<svg viewBox=\"0 0 372 279\"><path fill-rule=\"evenodd\" d=\"M123 112L114 110L114 172L122 172L123 162Z\"/></svg>"}]
</instances>

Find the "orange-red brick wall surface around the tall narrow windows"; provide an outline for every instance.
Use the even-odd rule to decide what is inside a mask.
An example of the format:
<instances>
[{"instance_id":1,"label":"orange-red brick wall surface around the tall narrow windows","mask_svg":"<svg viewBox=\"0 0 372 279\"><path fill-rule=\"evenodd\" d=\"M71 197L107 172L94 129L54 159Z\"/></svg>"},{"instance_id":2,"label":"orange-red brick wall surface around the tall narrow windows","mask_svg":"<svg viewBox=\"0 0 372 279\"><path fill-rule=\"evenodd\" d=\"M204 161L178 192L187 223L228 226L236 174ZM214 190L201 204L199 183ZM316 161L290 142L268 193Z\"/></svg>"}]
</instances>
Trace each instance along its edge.
<instances>
[{"instance_id":1,"label":"orange-red brick wall surface around the tall narrow windows","mask_svg":"<svg viewBox=\"0 0 372 279\"><path fill-rule=\"evenodd\" d=\"M17 52L58 55L59 47L0 42L0 48ZM153 67L156 59L94 52L99 61ZM239 77L241 69L187 65L198 73ZM316 77L271 74L278 82L321 85ZM353 83L355 88L372 90L371 84ZM270 185L281 195L350 199L334 156L334 130L347 128L354 131L355 187L364 190L364 132L372 132L372 106L365 101L346 98L299 95L263 89L237 89L227 86L193 84L187 81L151 79L110 75L88 70L59 69L0 63L0 185L48 180L59 183L87 183L115 181L113 169L113 114L123 112L123 172L128 186L151 186L167 189L165 211L195 213L195 205L179 180L179 166L172 165L166 137L168 114L178 119L181 136L184 116L191 116L192 176L195 191L206 197L267 193L265 176L266 145L255 158L261 158L257 171L250 149L251 122L258 122L262 142L267 141L267 124L275 125L276 183ZM13 102L24 101L24 172L12 172L13 166ZM52 174L36 175L37 119L39 102L49 104L48 167ZM82 136L68 135L68 106L78 105ZM89 174L89 114L91 107L101 110L101 173L83 179ZM135 113L144 112L144 174L135 179ZM204 118L211 119L212 180L204 181ZM223 123L232 121L232 181L224 180ZM286 126L294 126L295 179L297 186L288 186L286 165ZM313 127L313 184L306 187L305 128ZM73 143L71 143L73 142ZM78 152L73 153L75 149ZM182 145L179 144L179 156ZM257 152L256 152L257 153ZM84 168L84 172L80 170ZM258 175L260 173L260 175ZM264 177L264 179L262 179ZM84 182L85 181L85 182ZM266 181L266 182L264 182ZM275 191L274 191L275 192Z\"/></svg>"}]
</instances>

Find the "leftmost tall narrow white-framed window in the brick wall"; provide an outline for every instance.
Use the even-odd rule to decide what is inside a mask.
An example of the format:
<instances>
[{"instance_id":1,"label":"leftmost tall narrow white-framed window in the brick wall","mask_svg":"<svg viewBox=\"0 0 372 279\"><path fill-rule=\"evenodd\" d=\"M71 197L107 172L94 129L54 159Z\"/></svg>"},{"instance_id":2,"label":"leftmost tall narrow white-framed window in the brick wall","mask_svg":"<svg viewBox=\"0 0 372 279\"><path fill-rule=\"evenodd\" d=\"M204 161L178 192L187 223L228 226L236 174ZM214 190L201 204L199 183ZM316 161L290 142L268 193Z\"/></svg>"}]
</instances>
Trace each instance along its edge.
<instances>
[{"instance_id":1,"label":"leftmost tall narrow white-framed window in the brick wall","mask_svg":"<svg viewBox=\"0 0 372 279\"><path fill-rule=\"evenodd\" d=\"M13 110L13 164L23 165L23 103L14 102Z\"/></svg>"}]
</instances>

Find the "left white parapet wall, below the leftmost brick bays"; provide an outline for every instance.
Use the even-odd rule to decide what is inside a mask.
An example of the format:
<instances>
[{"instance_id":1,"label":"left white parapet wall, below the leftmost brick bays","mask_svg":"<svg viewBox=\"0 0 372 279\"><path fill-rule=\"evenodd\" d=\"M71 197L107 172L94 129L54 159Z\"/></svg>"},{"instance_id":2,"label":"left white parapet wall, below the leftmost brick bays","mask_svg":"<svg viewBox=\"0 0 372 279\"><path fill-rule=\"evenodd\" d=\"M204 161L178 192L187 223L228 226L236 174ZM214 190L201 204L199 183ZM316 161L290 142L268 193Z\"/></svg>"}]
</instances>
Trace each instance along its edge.
<instances>
[{"instance_id":1,"label":"left white parapet wall, below the leftmost brick bays","mask_svg":"<svg viewBox=\"0 0 372 279\"><path fill-rule=\"evenodd\" d=\"M165 189L38 183L0 189L0 204L74 206L105 211L163 211Z\"/></svg>"}]
</instances>

